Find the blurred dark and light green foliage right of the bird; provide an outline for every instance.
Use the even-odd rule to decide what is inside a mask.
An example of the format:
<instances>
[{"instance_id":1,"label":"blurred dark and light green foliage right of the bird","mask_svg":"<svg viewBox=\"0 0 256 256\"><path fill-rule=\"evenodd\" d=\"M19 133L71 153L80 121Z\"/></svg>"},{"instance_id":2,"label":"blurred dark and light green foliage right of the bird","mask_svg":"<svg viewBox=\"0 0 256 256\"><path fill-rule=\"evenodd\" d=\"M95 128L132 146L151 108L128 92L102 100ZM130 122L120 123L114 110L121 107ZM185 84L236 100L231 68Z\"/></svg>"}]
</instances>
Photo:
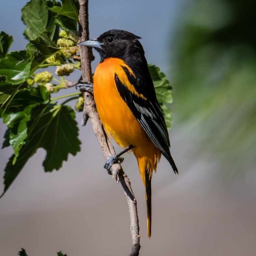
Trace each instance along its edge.
<instances>
[{"instance_id":1,"label":"blurred dark and light green foliage right of the bird","mask_svg":"<svg viewBox=\"0 0 256 256\"><path fill-rule=\"evenodd\" d=\"M196 0L182 11L171 48L175 118L221 170L255 170L255 2Z\"/></svg>"}]
</instances>

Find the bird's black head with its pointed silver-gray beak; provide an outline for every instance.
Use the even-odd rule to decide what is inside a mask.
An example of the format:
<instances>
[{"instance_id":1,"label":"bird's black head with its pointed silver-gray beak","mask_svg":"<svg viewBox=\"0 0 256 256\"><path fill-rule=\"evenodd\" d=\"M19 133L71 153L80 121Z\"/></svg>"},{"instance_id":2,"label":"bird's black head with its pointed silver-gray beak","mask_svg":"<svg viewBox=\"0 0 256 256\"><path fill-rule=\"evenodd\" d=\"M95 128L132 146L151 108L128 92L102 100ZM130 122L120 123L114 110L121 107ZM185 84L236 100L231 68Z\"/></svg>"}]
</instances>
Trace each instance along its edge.
<instances>
[{"instance_id":1,"label":"bird's black head with its pointed silver-gray beak","mask_svg":"<svg viewBox=\"0 0 256 256\"><path fill-rule=\"evenodd\" d=\"M125 30L111 29L98 38L79 43L94 47L100 54L101 62L109 57L125 60L127 57L144 56L144 50L139 42L140 37Z\"/></svg>"}]
</instances>

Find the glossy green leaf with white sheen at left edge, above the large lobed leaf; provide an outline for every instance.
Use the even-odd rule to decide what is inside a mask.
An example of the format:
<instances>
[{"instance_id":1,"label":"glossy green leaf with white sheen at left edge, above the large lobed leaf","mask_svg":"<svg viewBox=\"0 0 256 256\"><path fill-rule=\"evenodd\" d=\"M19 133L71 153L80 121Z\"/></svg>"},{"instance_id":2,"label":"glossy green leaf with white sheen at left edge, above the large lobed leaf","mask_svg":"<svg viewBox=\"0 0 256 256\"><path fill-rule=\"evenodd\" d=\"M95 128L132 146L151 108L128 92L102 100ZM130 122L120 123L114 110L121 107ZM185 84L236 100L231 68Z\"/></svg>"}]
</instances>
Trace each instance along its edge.
<instances>
[{"instance_id":1,"label":"glossy green leaf with white sheen at left edge, above the large lobed leaf","mask_svg":"<svg viewBox=\"0 0 256 256\"><path fill-rule=\"evenodd\" d=\"M0 76L9 84L23 83L30 74L31 62L32 55L28 51L11 52L0 59Z\"/></svg>"}]
</instances>

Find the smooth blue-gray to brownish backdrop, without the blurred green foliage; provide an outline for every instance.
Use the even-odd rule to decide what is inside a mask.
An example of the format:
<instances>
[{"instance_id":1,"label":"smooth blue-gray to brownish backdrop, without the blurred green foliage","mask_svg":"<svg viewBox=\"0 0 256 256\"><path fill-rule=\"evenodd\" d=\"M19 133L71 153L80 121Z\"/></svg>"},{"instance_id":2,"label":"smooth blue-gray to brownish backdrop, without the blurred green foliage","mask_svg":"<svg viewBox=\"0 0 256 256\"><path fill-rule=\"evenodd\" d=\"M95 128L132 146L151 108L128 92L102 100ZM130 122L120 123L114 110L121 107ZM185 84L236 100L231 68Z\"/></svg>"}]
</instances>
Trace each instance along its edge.
<instances>
[{"instance_id":1,"label":"smooth blue-gray to brownish backdrop, without the blurred green foliage","mask_svg":"<svg viewBox=\"0 0 256 256\"><path fill-rule=\"evenodd\" d=\"M13 35L11 51L27 44L20 11L26 2L1 3L0 30ZM172 80L174 48L170 42L175 42L174 30L187 15L188 6L189 1L177 0L90 1L90 37L112 28L141 36L148 62ZM97 53L95 56L93 69L99 60ZM76 77L79 72L71 79ZM217 156L209 160L202 153L195 154L199 142L193 129L197 123L175 122L181 104L175 103L174 86L170 137L180 175L173 174L165 159L153 175L151 240L146 237L144 187L137 161L126 155L123 163L138 201L140 255L255 255L255 168L239 177L219 175L229 170L218 165ZM79 113L77 122L80 120ZM0 144L5 129L0 124ZM81 152L70 156L58 172L44 173L45 152L38 150L0 200L1 255L17 255L21 247L29 256L56 255L60 250L68 256L128 254L129 215L122 189L102 168L104 158L90 124L80 127L80 139ZM2 177L12 149L0 152Z\"/></svg>"}]
</instances>

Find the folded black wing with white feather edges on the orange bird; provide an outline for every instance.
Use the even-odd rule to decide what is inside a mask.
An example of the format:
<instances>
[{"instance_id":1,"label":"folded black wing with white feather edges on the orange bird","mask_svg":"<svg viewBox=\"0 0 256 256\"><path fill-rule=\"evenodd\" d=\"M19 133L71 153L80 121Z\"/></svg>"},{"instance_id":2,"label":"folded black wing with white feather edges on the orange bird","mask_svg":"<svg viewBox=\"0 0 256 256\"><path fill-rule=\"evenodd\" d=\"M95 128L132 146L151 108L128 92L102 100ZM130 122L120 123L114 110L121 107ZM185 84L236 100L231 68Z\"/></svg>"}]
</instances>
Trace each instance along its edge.
<instances>
[{"instance_id":1,"label":"folded black wing with white feather edges on the orange bird","mask_svg":"<svg viewBox=\"0 0 256 256\"><path fill-rule=\"evenodd\" d=\"M136 79L129 76L129 71L125 67L123 67L123 69L127 74L128 79L133 80L130 82L134 85ZM177 167L170 153L169 134L161 108L155 96L155 90L153 89L153 95L152 91L151 96L150 94L147 94L147 96L150 96L150 98L145 96L147 99L143 99L135 94L132 94L126 85L120 82L117 74L115 74L115 83L120 96L129 106L129 109L145 130L148 137L163 154L163 156L165 156L165 158L169 161L174 173L178 173ZM153 85L152 80L151 83ZM134 87L136 88L137 86L134 85Z\"/></svg>"}]
</instances>

